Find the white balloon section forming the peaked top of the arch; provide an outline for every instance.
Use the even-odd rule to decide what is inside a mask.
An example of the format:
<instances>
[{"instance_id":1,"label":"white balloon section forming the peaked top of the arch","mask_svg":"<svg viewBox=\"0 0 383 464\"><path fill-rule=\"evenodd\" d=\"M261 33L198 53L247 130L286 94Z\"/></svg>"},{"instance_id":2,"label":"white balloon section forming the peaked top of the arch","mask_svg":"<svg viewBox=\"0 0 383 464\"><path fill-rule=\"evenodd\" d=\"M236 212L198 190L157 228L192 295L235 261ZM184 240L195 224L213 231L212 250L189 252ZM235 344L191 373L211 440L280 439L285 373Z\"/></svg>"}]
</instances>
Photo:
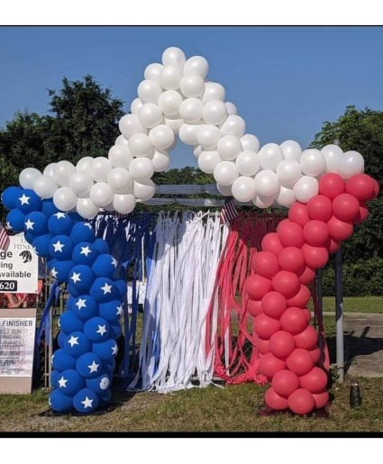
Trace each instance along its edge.
<instances>
[{"instance_id":1,"label":"white balloon section forming the peaked top of the arch","mask_svg":"<svg viewBox=\"0 0 383 464\"><path fill-rule=\"evenodd\" d=\"M218 190L240 202L252 201L260 208L274 203L290 206L307 202L318 193L318 178L336 172L347 179L363 172L364 160L357 151L336 145L323 150L302 150L296 141L260 148L255 135L231 102L225 102L221 84L206 80L205 58L187 59L170 47L162 63L144 71L131 114L120 122L121 135L108 157L53 163L40 171L26 168L20 184L42 198L53 196L63 211L94 217L99 208L130 213L137 200L155 193L154 172L169 168L169 151L180 141L193 146L198 167L213 174Z\"/></svg>"}]
</instances>

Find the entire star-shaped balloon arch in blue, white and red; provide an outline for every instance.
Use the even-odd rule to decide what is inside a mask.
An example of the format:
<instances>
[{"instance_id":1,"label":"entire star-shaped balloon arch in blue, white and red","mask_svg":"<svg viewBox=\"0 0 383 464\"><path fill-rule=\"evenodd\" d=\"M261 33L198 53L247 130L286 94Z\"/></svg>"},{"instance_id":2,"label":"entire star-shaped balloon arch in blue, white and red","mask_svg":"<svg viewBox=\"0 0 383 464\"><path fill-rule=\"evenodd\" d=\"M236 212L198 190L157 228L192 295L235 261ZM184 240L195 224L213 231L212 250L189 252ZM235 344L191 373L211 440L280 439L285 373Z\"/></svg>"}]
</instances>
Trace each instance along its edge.
<instances>
[{"instance_id":1,"label":"entire star-shaped balloon arch in blue, white and red","mask_svg":"<svg viewBox=\"0 0 383 464\"><path fill-rule=\"evenodd\" d=\"M260 148L225 91L206 80L208 63L170 47L162 63L144 71L131 113L107 157L59 161L43 173L25 168L20 187L2 195L7 225L25 232L36 253L48 259L51 275L68 284L61 315L59 350L52 358L50 405L59 412L93 412L111 399L110 384L126 282L108 244L87 222L100 208L129 214L155 193L154 172L169 168L169 151L180 141L193 147L198 167L213 174L223 196L258 208L289 208L261 241L245 282L254 316L259 373L269 380L266 404L308 414L328 402L328 371L318 335L305 307L306 287L329 253L351 236L378 196L378 182L363 174L357 151L336 145L302 150L296 141Z\"/></svg>"}]
</instances>

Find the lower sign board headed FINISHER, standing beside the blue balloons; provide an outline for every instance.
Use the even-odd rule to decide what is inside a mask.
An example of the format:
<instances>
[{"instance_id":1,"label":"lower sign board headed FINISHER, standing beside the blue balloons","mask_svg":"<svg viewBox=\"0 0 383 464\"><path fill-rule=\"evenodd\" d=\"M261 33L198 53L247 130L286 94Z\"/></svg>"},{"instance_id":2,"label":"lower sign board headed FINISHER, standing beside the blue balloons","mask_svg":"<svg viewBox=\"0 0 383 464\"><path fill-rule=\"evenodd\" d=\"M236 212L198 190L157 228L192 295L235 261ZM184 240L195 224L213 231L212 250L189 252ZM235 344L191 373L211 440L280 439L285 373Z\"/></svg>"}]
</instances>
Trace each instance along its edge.
<instances>
[{"instance_id":1,"label":"lower sign board headed FINISHER, standing beside the blue balloons","mask_svg":"<svg viewBox=\"0 0 383 464\"><path fill-rule=\"evenodd\" d=\"M0 309L0 393L31 393L36 308Z\"/></svg>"}]
</instances>

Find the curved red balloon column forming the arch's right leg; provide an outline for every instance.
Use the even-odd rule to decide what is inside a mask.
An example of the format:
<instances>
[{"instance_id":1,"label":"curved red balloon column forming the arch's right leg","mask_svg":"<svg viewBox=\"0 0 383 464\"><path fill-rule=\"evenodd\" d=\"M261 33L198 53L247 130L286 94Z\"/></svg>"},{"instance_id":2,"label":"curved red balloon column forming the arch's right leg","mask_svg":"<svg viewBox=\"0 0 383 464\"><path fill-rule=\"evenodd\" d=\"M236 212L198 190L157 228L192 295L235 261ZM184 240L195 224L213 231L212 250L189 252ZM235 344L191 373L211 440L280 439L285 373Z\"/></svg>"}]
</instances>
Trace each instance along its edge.
<instances>
[{"instance_id":1,"label":"curved red balloon column forming the arch's right leg","mask_svg":"<svg viewBox=\"0 0 383 464\"><path fill-rule=\"evenodd\" d=\"M349 238L369 212L365 204L378 196L378 183L367 174L344 181L338 174L319 179L319 195L296 203L288 219L268 233L252 259L254 274L245 282L248 312L254 317L260 374L271 387L270 409L310 414L328 402L328 372L319 364L318 334L306 307L315 279L329 254Z\"/></svg>"}]
</instances>

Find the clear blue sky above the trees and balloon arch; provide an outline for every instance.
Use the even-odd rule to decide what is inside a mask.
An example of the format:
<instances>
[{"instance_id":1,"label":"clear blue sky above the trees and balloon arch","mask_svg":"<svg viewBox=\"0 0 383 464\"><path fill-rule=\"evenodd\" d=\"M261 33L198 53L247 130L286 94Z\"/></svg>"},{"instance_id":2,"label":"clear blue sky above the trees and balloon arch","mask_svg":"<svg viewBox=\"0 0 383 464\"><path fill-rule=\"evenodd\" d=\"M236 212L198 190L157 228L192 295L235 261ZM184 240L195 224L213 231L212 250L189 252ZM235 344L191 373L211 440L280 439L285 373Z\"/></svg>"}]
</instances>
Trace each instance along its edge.
<instances>
[{"instance_id":1,"label":"clear blue sky above the trees and balloon arch","mask_svg":"<svg viewBox=\"0 0 383 464\"><path fill-rule=\"evenodd\" d=\"M48 111L48 88L86 74L129 110L143 70L169 46L204 56L246 132L303 148L346 105L383 109L382 27L1 27L0 127L16 110ZM196 166L178 144L172 167Z\"/></svg>"}]
</instances>

